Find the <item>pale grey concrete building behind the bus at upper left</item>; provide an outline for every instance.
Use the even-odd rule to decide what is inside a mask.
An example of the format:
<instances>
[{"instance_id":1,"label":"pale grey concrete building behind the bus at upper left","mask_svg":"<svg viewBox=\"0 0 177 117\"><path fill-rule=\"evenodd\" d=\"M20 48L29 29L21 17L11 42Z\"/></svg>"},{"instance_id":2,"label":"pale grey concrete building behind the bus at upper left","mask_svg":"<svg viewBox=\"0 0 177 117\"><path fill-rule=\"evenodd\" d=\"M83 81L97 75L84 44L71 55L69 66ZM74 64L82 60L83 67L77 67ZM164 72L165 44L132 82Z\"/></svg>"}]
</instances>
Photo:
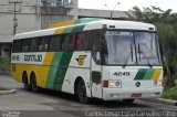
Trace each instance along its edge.
<instances>
[{"instance_id":1,"label":"pale grey concrete building behind the bus at upper left","mask_svg":"<svg viewBox=\"0 0 177 117\"><path fill-rule=\"evenodd\" d=\"M0 56L10 55L13 39L14 6L17 4L17 33L46 29L51 23L79 18L110 18L111 11L79 9L79 0L0 0ZM113 11L113 19L127 17L125 12Z\"/></svg>"}]
</instances>

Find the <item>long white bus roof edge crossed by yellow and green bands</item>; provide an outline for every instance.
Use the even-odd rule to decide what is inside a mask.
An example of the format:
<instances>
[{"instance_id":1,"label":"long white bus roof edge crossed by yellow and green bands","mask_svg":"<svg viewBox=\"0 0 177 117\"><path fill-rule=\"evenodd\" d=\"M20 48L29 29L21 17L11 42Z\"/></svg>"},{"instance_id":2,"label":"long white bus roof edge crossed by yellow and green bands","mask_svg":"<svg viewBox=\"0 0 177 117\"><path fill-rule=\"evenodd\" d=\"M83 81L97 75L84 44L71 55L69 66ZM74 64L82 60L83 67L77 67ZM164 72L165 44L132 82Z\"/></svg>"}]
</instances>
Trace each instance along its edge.
<instances>
[{"instance_id":1,"label":"long white bus roof edge crossed by yellow and green bands","mask_svg":"<svg viewBox=\"0 0 177 117\"><path fill-rule=\"evenodd\" d=\"M35 36L44 36L44 35L54 35L61 33L73 33L73 32L82 32L88 30L96 30L96 29L111 29L111 30L139 30L139 31L156 31L155 25L149 23L143 22L135 22L135 21L121 21L121 20L94 20L88 22L80 22L73 25L46 29L46 30L39 30L33 32L25 32L21 34L17 34L14 40L18 39L29 39Z\"/></svg>"}]
</instances>

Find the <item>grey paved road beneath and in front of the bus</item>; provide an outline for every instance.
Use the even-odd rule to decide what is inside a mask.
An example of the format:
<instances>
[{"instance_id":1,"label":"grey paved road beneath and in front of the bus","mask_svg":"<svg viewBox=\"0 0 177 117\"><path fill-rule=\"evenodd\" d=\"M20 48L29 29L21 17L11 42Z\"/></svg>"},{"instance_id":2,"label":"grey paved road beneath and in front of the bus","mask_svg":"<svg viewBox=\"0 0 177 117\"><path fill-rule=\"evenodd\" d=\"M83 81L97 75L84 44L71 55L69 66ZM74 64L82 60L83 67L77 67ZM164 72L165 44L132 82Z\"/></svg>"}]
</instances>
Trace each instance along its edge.
<instances>
[{"instance_id":1,"label":"grey paved road beneath and in front of the bus","mask_svg":"<svg viewBox=\"0 0 177 117\"><path fill-rule=\"evenodd\" d=\"M137 99L126 105L121 102L94 100L90 105L79 103L74 96L43 89L39 94L23 91L23 86L9 76L0 76L0 87L15 88L17 93L0 95L0 117L19 114L20 117L110 117L110 116L177 116L177 106ZM1 114L2 113L2 114ZM7 116L3 116L7 117Z\"/></svg>"}]
</instances>

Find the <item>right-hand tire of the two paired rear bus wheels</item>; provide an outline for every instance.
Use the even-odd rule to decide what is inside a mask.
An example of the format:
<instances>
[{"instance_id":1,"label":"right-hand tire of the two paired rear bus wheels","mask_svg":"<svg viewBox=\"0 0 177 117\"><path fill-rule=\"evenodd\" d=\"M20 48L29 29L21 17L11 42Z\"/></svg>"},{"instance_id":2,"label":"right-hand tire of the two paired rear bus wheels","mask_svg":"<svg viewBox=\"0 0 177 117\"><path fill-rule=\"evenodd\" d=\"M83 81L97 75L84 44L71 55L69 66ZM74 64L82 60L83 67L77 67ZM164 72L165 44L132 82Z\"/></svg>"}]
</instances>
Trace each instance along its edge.
<instances>
[{"instance_id":1,"label":"right-hand tire of the two paired rear bus wheels","mask_svg":"<svg viewBox=\"0 0 177 117\"><path fill-rule=\"evenodd\" d=\"M31 75L31 87L32 87L33 93L40 92L40 87L38 87L38 85L37 85L37 78L35 78L34 74Z\"/></svg>"}]
</instances>

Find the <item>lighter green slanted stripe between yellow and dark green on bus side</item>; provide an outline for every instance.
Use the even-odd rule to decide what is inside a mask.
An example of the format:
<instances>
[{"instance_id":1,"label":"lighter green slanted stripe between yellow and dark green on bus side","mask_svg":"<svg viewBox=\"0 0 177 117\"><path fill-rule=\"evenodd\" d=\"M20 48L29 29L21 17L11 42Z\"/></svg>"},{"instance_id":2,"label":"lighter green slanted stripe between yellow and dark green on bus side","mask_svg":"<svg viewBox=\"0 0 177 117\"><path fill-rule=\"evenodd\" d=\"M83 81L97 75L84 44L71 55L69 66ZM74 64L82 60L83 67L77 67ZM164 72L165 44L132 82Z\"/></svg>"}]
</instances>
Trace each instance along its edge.
<instances>
[{"instance_id":1,"label":"lighter green slanted stripe between yellow and dark green on bus side","mask_svg":"<svg viewBox=\"0 0 177 117\"><path fill-rule=\"evenodd\" d=\"M48 74L48 79L46 79L46 87L48 88L52 88L53 82L54 82L54 77L56 74L56 70L58 70L58 65L62 59L62 52L56 52L54 53L52 63L51 63L51 67Z\"/></svg>"}]
</instances>

